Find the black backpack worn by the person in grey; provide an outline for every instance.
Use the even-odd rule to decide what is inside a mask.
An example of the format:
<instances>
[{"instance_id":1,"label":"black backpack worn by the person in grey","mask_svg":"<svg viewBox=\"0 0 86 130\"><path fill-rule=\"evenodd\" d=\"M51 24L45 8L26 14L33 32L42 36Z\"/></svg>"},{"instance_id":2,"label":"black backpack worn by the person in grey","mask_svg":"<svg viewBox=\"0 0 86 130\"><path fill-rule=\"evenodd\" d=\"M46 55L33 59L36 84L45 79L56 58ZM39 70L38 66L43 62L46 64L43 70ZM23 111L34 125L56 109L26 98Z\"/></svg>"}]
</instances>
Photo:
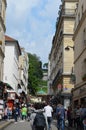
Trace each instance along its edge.
<instances>
[{"instance_id":1,"label":"black backpack worn by the person in grey","mask_svg":"<svg viewBox=\"0 0 86 130\"><path fill-rule=\"evenodd\" d=\"M46 126L46 120L45 120L43 113L36 114L35 119L34 119L34 125L35 126L42 126L42 127Z\"/></svg>"}]
</instances>

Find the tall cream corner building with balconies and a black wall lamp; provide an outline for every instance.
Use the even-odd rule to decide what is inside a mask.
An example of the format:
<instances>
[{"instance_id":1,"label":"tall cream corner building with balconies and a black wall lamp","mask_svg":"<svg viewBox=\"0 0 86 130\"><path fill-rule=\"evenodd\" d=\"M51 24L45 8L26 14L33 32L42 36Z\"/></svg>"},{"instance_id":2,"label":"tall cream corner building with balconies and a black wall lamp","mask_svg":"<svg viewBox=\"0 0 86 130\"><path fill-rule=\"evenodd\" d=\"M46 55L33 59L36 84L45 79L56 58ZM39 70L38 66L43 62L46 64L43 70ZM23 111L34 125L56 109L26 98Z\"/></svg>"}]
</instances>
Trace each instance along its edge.
<instances>
[{"instance_id":1,"label":"tall cream corner building with balconies and a black wall lamp","mask_svg":"<svg viewBox=\"0 0 86 130\"><path fill-rule=\"evenodd\" d=\"M49 88L57 100L65 107L70 103L71 89L74 87L74 42L73 29L77 0L62 0L56 22L56 32L49 54ZM66 48L70 49L66 51ZM67 50L68 50L67 49Z\"/></svg>"}]
</instances>

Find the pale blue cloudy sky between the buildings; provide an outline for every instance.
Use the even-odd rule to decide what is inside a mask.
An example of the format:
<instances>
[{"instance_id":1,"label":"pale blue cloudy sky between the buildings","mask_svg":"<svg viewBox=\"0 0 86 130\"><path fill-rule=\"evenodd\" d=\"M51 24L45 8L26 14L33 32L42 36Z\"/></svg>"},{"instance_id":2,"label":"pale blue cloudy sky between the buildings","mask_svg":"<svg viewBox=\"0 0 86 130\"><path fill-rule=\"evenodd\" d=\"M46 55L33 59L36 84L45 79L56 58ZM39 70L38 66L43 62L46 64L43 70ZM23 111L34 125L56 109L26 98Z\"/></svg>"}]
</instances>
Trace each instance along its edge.
<instances>
[{"instance_id":1,"label":"pale blue cloudy sky between the buildings","mask_svg":"<svg viewBox=\"0 0 86 130\"><path fill-rule=\"evenodd\" d=\"M48 62L61 0L7 0L6 35Z\"/></svg>"}]
</instances>

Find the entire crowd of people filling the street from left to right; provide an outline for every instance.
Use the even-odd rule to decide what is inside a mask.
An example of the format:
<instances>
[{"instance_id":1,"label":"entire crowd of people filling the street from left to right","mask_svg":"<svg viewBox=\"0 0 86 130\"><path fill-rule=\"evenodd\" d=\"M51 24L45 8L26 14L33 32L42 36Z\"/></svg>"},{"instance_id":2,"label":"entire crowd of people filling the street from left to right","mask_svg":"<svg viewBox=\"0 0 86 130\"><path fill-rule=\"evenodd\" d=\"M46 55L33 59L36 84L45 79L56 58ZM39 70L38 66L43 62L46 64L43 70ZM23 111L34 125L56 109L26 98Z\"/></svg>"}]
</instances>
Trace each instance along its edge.
<instances>
[{"instance_id":1,"label":"entire crowd of people filling the street from left to right","mask_svg":"<svg viewBox=\"0 0 86 130\"><path fill-rule=\"evenodd\" d=\"M51 105L46 103L34 103L29 106L22 104L21 107L15 105L11 111L8 107L4 111L4 119L14 118L15 122L30 121L32 130L51 130L52 120L57 121L58 130L65 130L65 127L76 128L76 130L86 130L86 106L77 105L76 108L65 109L61 103Z\"/></svg>"}]
</instances>

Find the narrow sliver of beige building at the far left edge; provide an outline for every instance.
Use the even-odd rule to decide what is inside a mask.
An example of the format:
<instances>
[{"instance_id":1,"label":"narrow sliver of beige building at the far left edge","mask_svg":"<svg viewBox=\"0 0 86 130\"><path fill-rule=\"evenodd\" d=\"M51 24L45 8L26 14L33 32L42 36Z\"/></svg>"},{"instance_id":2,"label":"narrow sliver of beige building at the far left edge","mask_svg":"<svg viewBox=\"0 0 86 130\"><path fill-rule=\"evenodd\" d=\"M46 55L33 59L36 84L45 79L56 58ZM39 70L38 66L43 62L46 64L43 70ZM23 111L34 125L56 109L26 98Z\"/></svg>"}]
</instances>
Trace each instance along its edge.
<instances>
[{"instance_id":1,"label":"narrow sliver of beige building at the far left edge","mask_svg":"<svg viewBox=\"0 0 86 130\"><path fill-rule=\"evenodd\" d=\"M0 81L3 80L3 65L5 57L5 14L6 14L6 0L0 0Z\"/></svg>"}]
</instances>

